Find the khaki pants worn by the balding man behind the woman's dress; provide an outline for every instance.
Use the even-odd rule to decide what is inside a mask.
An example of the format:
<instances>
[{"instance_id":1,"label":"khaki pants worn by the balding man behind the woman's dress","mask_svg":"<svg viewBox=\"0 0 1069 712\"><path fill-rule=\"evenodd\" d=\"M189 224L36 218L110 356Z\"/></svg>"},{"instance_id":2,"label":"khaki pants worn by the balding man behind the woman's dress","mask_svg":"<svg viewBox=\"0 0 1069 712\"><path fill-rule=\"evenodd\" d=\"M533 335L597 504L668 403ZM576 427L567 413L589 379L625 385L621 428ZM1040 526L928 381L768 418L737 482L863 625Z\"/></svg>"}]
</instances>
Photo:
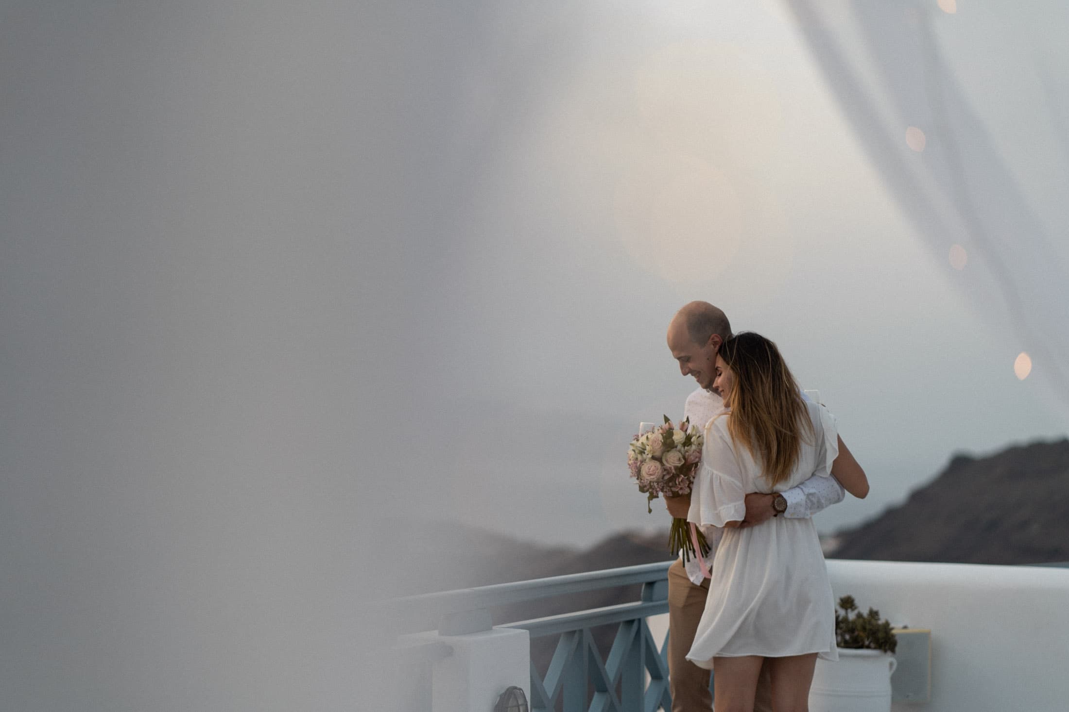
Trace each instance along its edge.
<instances>
[{"instance_id":1,"label":"khaki pants worn by the balding man behind the woman's dress","mask_svg":"<svg viewBox=\"0 0 1069 712\"><path fill-rule=\"evenodd\" d=\"M668 684L671 690L671 712L707 712L713 709L713 695L709 692L709 670L686 659L694 643L694 634L706 610L709 579L700 586L691 583L677 559L668 567ZM772 682L768 664L761 667L757 679L755 712L772 712Z\"/></svg>"}]
</instances>

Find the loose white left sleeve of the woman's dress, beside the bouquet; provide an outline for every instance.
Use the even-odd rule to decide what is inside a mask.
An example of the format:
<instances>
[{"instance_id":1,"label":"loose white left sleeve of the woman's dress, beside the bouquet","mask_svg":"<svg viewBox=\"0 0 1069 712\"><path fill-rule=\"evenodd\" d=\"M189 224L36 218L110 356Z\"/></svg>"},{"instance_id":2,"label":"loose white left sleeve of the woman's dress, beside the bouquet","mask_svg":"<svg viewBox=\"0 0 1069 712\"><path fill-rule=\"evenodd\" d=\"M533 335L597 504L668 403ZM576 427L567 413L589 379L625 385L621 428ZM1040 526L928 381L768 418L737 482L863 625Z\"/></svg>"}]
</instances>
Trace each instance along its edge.
<instances>
[{"instance_id":1,"label":"loose white left sleeve of the woman's dress, beside the bouquet","mask_svg":"<svg viewBox=\"0 0 1069 712\"><path fill-rule=\"evenodd\" d=\"M687 521L698 526L724 526L746 518L746 490L742 468L723 428L710 422L701 465L694 478Z\"/></svg>"}]
</instances>

